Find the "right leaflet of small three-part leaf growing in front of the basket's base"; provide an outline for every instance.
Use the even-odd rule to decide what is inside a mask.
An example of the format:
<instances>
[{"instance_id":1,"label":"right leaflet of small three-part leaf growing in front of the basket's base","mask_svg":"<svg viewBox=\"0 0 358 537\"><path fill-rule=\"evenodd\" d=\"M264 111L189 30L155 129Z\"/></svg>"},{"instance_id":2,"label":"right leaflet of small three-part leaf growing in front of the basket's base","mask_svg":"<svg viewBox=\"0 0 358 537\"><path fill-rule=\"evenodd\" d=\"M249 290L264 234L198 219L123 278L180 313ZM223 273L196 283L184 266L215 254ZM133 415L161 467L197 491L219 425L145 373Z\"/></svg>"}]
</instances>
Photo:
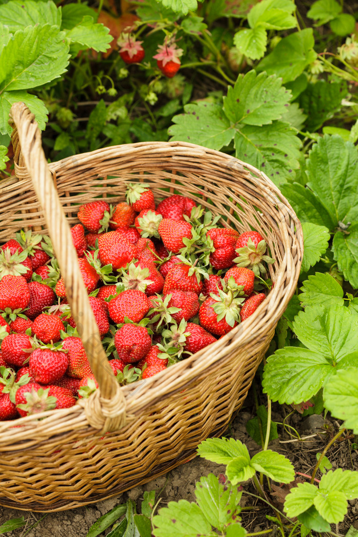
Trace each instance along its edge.
<instances>
[{"instance_id":1,"label":"right leaflet of small three-part leaf growing in front of the basket's base","mask_svg":"<svg viewBox=\"0 0 358 537\"><path fill-rule=\"evenodd\" d=\"M266 449L251 459L251 466L279 483L290 483L295 478L295 469L281 453Z\"/></svg>"}]
</instances>

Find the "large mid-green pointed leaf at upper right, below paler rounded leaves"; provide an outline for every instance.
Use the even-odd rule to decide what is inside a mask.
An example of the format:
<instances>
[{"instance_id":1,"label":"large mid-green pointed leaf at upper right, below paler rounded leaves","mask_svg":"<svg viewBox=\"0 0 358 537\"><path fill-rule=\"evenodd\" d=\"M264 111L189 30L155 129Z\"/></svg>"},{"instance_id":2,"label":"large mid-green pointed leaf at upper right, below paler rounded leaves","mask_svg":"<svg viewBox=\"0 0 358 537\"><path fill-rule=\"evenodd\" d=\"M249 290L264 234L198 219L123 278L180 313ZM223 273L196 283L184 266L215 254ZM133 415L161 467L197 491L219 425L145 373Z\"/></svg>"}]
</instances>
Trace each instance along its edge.
<instances>
[{"instance_id":1,"label":"large mid-green pointed leaf at upper right, below paler rounded leaves","mask_svg":"<svg viewBox=\"0 0 358 537\"><path fill-rule=\"evenodd\" d=\"M290 82L316 60L314 44L312 28L290 34L281 39L273 51L260 61L257 70L282 77L283 84Z\"/></svg>"}]
</instances>

